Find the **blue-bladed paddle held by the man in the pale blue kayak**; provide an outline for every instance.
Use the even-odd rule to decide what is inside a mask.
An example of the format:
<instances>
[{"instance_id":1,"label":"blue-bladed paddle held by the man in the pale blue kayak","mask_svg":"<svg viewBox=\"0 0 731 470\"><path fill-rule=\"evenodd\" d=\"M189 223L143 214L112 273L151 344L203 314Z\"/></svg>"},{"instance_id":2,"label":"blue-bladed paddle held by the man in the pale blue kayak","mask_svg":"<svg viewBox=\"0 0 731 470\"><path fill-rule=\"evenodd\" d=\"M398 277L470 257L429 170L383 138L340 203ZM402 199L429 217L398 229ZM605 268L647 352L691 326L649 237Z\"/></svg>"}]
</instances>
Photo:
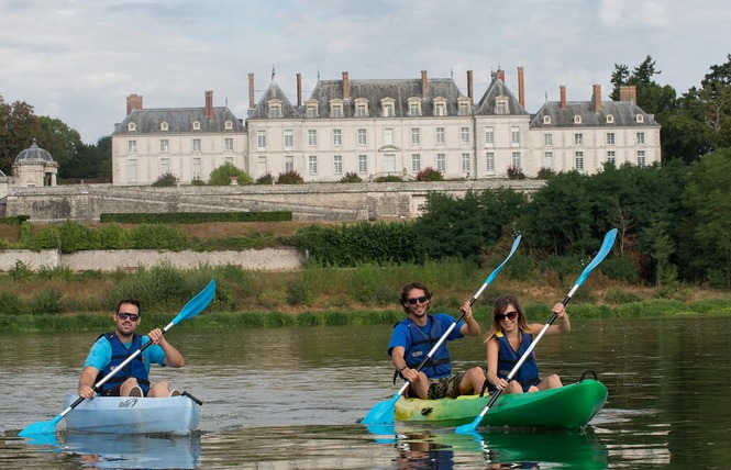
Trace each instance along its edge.
<instances>
[{"instance_id":1,"label":"blue-bladed paddle held by the man in the pale blue kayak","mask_svg":"<svg viewBox=\"0 0 731 470\"><path fill-rule=\"evenodd\" d=\"M170 323L163 328L163 334L165 334L168 329L170 329L174 325L177 325L178 323L182 322L184 320L189 320L192 318L193 316L198 315L200 312L202 312L209 303L211 303L211 300L213 300L213 295L215 294L215 281L211 280L211 282L203 288L202 291L198 292L198 294L190 299L188 303L182 307L180 313L173 318ZM130 357L128 357L124 362L119 365L119 367L114 368L111 372L109 372L103 379L101 379L99 382L97 382L93 385L93 390L99 391L101 389L101 385L107 383L109 379L114 377L114 374L124 369L124 367L133 360L135 357L140 356L142 351L147 349L152 345L152 340L147 340L140 349L134 351ZM56 424L66 416L68 413L71 412L76 406L78 406L85 399L79 396L74 403L71 403L66 410L64 410L58 416L53 418L52 421L41 421L37 423L33 423L29 426L26 426L23 430L21 430L18 435L21 437L33 437L36 435L41 434L52 434L56 429Z\"/></svg>"}]
</instances>

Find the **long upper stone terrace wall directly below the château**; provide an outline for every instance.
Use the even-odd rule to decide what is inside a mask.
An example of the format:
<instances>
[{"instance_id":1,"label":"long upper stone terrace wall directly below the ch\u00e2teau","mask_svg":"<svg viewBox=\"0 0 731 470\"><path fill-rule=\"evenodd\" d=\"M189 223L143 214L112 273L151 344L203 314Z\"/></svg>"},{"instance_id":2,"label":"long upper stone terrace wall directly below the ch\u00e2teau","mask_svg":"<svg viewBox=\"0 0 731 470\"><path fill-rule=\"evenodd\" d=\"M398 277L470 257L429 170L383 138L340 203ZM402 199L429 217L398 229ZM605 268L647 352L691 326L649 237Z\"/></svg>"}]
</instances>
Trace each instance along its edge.
<instances>
[{"instance_id":1,"label":"long upper stone terrace wall directly below the ch\u00e2teau","mask_svg":"<svg viewBox=\"0 0 731 470\"><path fill-rule=\"evenodd\" d=\"M430 191L463 197L467 190L513 188L533 192L543 180L476 180L402 183L309 183L124 188L111 184L19 188L11 186L5 214L32 222L98 222L103 213L291 211L296 221L410 219Z\"/></svg>"}]
</instances>

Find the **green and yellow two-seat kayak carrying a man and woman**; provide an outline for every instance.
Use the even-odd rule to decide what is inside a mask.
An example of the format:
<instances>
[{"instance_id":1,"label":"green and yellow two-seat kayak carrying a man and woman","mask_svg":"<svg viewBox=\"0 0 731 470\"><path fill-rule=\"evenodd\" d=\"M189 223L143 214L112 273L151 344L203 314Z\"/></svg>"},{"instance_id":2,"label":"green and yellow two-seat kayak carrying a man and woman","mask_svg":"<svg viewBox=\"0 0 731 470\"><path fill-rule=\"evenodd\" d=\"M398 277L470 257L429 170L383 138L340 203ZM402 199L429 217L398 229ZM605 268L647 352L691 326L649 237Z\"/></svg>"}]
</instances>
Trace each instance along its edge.
<instances>
[{"instance_id":1,"label":"green and yellow two-seat kayak carrying a man and woman","mask_svg":"<svg viewBox=\"0 0 731 470\"><path fill-rule=\"evenodd\" d=\"M607 403L607 388L596 380L542 392L500 395L487 412L481 426L579 428ZM489 395L419 400L400 398L394 418L400 422L439 426L472 423L489 401Z\"/></svg>"}]
</instances>

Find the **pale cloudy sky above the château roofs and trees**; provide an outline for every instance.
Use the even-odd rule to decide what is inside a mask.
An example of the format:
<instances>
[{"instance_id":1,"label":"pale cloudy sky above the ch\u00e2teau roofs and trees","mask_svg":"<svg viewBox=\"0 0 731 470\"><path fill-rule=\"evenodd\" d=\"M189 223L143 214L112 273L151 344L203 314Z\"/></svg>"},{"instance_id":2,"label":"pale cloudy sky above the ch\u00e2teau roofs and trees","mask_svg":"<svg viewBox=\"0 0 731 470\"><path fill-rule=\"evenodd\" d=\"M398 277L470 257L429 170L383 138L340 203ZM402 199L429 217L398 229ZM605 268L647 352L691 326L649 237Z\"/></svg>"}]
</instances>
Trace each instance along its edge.
<instances>
[{"instance_id":1,"label":"pale cloudy sky above the ch\u00e2teau roofs and trees","mask_svg":"<svg viewBox=\"0 0 731 470\"><path fill-rule=\"evenodd\" d=\"M113 132L126 96L144 108L248 110L274 80L297 102L318 77L454 78L475 99L505 70L525 108L587 101L614 66L655 60L660 85L699 87L731 53L728 0L2 0L0 97L58 119L87 144Z\"/></svg>"}]
</instances>

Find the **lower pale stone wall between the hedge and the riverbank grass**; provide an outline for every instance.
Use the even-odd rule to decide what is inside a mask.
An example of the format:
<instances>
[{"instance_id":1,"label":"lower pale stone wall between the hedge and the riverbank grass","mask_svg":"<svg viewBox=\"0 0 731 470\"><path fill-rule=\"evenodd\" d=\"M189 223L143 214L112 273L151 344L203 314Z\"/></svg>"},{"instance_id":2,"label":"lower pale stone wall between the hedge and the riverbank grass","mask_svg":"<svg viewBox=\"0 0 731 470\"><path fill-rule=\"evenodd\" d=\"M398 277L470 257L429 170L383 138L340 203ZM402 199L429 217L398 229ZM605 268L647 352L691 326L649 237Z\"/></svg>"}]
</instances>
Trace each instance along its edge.
<instances>
[{"instance_id":1,"label":"lower pale stone wall between the hedge and the riverbank grass","mask_svg":"<svg viewBox=\"0 0 731 470\"><path fill-rule=\"evenodd\" d=\"M200 266L239 266L250 270L290 270L302 266L304 256L295 248L265 248L243 251L156 251L151 249L90 250L62 254L46 249L0 250L0 271L14 269L19 264L32 271L65 267L73 271L123 269L134 271L141 267L169 265L179 269Z\"/></svg>"}]
</instances>

